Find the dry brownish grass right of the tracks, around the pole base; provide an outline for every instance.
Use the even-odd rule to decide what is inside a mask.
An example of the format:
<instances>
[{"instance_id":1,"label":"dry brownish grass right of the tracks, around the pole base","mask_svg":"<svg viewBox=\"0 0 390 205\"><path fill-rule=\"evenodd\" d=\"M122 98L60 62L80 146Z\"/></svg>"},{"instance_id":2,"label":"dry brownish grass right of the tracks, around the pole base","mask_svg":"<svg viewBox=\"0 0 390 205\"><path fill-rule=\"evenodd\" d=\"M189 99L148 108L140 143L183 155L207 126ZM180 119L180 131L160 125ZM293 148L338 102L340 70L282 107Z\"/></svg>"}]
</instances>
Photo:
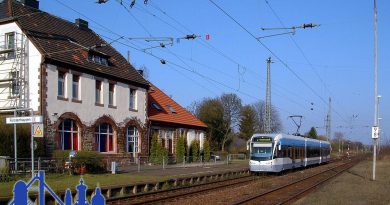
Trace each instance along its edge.
<instances>
[{"instance_id":1,"label":"dry brownish grass right of the tracks, around the pole base","mask_svg":"<svg viewBox=\"0 0 390 205\"><path fill-rule=\"evenodd\" d=\"M372 180L372 158L328 182L295 204L389 204L390 155L377 160Z\"/></svg>"}]
</instances>

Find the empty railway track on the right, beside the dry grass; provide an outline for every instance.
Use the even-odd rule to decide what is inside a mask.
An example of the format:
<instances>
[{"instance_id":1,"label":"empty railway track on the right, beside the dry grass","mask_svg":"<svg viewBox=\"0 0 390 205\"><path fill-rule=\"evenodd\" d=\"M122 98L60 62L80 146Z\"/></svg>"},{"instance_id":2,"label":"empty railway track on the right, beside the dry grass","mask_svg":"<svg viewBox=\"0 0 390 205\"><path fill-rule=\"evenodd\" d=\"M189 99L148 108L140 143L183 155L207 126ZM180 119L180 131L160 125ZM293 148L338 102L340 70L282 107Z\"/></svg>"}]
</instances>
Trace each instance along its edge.
<instances>
[{"instance_id":1,"label":"empty railway track on the right, beside the dry grass","mask_svg":"<svg viewBox=\"0 0 390 205\"><path fill-rule=\"evenodd\" d=\"M298 199L300 196L308 193L317 186L323 184L324 182L334 178L338 174L342 173L345 170L348 170L356 163L359 159L350 160L347 163L343 163L336 167L331 167L320 173L313 174L302 179L290 182L285 185L267 190L262 193L258 193L239 201L231 203L232 205L241 205L241 204L289 204Z\"/></svg>"}]
</instances>

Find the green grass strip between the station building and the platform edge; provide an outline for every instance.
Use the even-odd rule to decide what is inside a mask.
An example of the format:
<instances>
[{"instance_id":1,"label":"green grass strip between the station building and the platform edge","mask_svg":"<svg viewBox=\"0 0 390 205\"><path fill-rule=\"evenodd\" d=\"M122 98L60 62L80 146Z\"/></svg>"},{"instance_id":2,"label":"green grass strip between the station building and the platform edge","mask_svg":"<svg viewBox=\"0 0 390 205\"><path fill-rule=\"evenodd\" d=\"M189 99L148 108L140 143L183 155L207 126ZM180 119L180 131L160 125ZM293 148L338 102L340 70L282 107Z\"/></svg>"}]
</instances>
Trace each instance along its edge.
<instances>
[{"instance_id":1,"label":"green grass strip between the station building and the platform edge","mask_svg":"<svg viewBox=\"0 0 390 205\"><path fill-rule=\"evenodd\" d=\"M132 184L137 182L159 181L171 178L170 176L140 176L134 173L124 174L86 174L82 176L67 175L67 174L47 174L45 182L56 192L63 192L67 188L75 189L79 184L80 177L83 178L84 183L88 188L94 188L96 185L100 187L105 186L119 186L125 184ZM21 180L27 182L30 177L22 178ZM0 183L0 197L12 197L13 186L15 181Z\"/></svg>"}]
</instances>

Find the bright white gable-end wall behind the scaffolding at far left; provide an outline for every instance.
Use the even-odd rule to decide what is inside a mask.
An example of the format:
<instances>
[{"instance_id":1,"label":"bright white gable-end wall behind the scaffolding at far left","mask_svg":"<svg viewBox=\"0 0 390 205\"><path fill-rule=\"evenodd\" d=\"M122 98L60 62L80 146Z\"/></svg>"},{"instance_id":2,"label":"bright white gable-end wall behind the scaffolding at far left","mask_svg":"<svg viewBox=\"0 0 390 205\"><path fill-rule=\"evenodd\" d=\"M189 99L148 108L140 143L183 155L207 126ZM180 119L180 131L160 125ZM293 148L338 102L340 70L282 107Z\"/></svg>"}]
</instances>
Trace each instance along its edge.
<instances>
[{"instance_id":1,"label":"bright white gable-end wall behind the scaffolding at far left","mask_svg":"<svg viewBox=\"0 0 390 205\"><path fill-rule=\"evenodd\" d=\"M3 47L5 43L5 36L6 33L15 32L17 36L20 36L22 34L22 30L19 28L19 26L12 22L0 25L0 36L2 39L0 39L0 46ZM0 48L1 50L1 48ZM37 48L27 39L27 59L26 59L26 65L28 68L28 86L26 89L28 89L28 96L29 96L29 102L27 107L33 108L34 111L38 111L39 107L39 75L40 75L40 65L41 65L41 54L37 50ZM16 58L15 58L16 59ZM9 59L9 60L0 60L0 80L9 78L9 72L13 66L13 63L15 62L15 59ZM1 82L0 83L0 108L6 108L9 107L10 104L10 82Z\"/></svg>"}]
</instances>

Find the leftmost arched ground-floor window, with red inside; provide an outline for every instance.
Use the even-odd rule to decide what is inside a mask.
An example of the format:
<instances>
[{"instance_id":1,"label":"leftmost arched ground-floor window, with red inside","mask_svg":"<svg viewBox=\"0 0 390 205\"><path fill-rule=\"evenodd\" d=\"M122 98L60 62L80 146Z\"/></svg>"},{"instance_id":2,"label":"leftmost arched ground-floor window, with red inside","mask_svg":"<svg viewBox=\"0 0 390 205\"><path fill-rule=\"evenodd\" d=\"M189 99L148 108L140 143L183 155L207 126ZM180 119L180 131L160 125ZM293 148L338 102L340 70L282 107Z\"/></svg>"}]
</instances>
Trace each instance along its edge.
<instances>
[{"instance_id":1,"label":"leftmost arched ground-floor window, with red inside","mask_svg":"<svg viewBox=\"0 0 390 205\"><path fill-rule=\"evenodd\" d=\"M79 150L79 130L76 122L71 119L65 119L58 127L61 136L62 150Z\"/></svg>"}]
</instances>

